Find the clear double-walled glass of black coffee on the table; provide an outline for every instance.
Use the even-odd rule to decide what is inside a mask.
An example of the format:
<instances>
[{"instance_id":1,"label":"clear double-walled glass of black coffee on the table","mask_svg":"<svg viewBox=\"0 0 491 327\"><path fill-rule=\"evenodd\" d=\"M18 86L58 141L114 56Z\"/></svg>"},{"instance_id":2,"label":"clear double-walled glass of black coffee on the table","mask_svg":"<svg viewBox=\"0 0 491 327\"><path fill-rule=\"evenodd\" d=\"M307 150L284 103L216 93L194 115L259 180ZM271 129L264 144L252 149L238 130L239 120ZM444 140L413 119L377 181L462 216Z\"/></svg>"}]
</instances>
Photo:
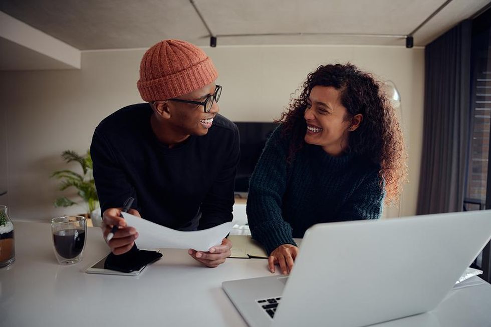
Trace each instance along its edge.
<instances>
[{"instance_id":1,"label":"clear double-walled glass of black coffee on the table","mask_svg":"<svg viewBox=\"0 0 491 327\"><path fill-rule=\"evenodd\" d=\"M82 261L87 235L87 221L82 216L64 216L51 219L51 232L55 256L60 264Z\"/></svg>"}]
</instances>

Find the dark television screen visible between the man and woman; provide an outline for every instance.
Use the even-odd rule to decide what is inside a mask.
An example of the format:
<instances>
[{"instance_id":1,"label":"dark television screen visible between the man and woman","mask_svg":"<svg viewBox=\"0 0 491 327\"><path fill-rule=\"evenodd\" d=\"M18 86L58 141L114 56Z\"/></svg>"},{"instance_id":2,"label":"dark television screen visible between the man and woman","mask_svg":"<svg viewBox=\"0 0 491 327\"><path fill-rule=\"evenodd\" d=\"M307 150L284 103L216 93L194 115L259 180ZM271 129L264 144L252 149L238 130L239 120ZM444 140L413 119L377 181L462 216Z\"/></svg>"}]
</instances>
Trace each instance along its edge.
<instances>
[{"instance_id":1,"label":"dark television screen visible between the man and woman","mask_svg":"<svg viewBox=\"0 0 491 327\"><path fill-rule=\"evenodd\" d=\"M261 122L235 122L240 134L240 161L237 166L234 192L247 196L249 179L263 153L266 141L278 124Z\"/></svg>"}]
</instances>

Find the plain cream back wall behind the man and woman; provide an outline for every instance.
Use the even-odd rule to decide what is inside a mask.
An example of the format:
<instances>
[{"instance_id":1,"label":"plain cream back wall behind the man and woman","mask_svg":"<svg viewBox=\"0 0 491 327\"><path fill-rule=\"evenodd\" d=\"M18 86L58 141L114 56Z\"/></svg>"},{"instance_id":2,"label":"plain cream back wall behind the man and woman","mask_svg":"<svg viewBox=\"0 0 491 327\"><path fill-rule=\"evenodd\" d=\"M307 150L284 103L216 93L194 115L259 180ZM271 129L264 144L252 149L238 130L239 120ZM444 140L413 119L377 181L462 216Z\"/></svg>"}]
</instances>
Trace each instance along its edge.
<instances>
[{"instance_id":1,"label":"plain cream back wall behind the man and woman","mask_svg":"<svg viewBox=\"0 0 491 327\"><path fill-rule=\"evenodd\" d=\"M392 80L401 93L409 152L410 183L403 193L402 214L415 213L422 143L423 49L251 46L205 51L219 71L217 83L223 85L220 113L233 121L278 118L290 95L320 64L350 61ZM0 73L9 189L0 201L10 206L14 219L47 220L83 212L76 207L53 208L54 199L62 193L49 176L66 167L60 158L63 150L83 153L89 148L99 121L122 106L141 102L136 81L143 53L83 52L81 70ZM396 211L387 213L395 215Z\"/></svg>"}]
</instances>

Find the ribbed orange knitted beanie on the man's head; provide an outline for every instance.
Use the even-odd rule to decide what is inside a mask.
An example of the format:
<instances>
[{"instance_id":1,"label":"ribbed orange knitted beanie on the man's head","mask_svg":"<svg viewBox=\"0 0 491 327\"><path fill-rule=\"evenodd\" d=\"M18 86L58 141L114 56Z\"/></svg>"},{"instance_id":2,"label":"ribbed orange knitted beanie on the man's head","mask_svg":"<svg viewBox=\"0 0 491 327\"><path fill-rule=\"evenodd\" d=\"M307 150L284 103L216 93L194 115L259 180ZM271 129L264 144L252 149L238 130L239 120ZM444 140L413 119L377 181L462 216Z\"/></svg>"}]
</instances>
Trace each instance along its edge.
<instances>
[{"instance_id":1,"label":"ribbed orange knitted beanie on the man's head","mask_svg":"<svg viewBox=\"0 0 491 327\"><path fill-rule=\"evenodd\" d=\"M164 40L148 49L137 86L147 102L191 93L216 80L218 73L203 50L181 40Z\"/></svg>"}]
</instances>

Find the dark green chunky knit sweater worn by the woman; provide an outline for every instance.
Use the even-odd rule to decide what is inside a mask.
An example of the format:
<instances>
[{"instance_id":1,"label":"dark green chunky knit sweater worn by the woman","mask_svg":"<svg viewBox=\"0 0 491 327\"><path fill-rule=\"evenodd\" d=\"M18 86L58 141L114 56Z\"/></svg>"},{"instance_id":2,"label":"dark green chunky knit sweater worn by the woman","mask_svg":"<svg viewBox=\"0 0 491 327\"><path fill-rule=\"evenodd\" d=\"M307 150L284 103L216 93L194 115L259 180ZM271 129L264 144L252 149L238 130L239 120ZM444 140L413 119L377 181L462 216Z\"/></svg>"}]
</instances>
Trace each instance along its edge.
<instances>
[{"instance_id":1,"label":"dark green chunky knit sweater worn by the woman","mask_svg":"<svg viewBox=\"0 0 491 327\"><path fill-rule=\"evenodd\" d=\"M268 140L249 186L247 216L252 237L268 254L281 244L295 244L312 225L377 219L384 191L379 167L353 154L328 155L305 144L287 164L289 141L280 125Z\"/></svg>"}]
</instances>

